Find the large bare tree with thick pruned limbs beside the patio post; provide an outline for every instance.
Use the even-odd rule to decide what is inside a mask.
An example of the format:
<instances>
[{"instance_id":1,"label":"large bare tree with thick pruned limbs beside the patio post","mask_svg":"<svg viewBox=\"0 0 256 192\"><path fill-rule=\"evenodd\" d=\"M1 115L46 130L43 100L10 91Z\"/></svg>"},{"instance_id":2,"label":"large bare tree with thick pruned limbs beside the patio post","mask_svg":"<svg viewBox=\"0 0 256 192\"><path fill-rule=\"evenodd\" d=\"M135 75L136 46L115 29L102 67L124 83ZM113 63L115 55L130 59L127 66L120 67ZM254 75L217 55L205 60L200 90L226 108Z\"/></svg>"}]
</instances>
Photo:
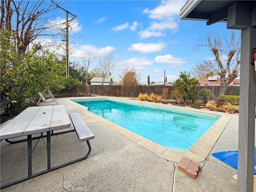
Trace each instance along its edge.
<instances>
[{"instance_id":1,"label":"large bare tree with thick pruned limbs beside the patio post","mask_svg":"<svg viewBox=\"0 0 256 192\"><path fill-rule=\"evenodd\" d=\"M240 72L240 41L241 35L235 34L234 30L230 37L225 37L224 41L219 34L208 34L202 44L210 48L214 54L216 65L214 66L217 74L220 76L220 85L229 85ZM226 86L222 86L218 98L224 95Z\"/></svg>"}]
</instances>

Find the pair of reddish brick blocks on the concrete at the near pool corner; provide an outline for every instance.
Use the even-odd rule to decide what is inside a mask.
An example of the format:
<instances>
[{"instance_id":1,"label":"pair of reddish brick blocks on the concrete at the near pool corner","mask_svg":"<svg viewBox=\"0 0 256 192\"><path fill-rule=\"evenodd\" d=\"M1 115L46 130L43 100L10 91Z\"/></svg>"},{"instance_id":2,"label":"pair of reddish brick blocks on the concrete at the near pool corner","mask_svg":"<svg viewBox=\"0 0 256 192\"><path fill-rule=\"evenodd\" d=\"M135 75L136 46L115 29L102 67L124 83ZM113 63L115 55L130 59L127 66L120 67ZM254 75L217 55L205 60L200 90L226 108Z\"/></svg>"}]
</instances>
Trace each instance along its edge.
<instances>
[{"instance_id":1,"label":"pair of reddish brick blocks on the concrete at the near pool corner","mask_svg":"<svg viewBox=\"0 0 256 192\"><path fill-rule=\"evenodd\" d=\"M200 170L200 165L189 158L182 157L178 163L178 169L186 173L191 178L196 179Z\"/></svg>"}]
</instances>

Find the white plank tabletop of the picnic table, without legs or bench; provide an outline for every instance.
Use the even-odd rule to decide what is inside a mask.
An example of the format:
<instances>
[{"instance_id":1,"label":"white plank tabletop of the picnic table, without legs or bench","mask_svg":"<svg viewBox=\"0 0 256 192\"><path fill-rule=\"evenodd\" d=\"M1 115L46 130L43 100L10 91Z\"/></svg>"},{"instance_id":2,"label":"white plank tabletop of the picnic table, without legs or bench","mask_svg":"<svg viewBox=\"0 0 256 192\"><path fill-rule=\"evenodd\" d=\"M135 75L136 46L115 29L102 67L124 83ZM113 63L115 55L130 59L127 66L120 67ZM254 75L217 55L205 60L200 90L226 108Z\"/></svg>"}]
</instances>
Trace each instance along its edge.
<instances>
[{"instance_id":1,"label":"white plank tabletop of the picnic table, without legs or bench","mask_svg":"<svg viewBox=\"0 0 256 192\"><path fill-rule=\"evenodd\" d=\"M9 139L71 126L64 105L28 107L0 129L0 139Z\"/></svg>"}]
</instances>

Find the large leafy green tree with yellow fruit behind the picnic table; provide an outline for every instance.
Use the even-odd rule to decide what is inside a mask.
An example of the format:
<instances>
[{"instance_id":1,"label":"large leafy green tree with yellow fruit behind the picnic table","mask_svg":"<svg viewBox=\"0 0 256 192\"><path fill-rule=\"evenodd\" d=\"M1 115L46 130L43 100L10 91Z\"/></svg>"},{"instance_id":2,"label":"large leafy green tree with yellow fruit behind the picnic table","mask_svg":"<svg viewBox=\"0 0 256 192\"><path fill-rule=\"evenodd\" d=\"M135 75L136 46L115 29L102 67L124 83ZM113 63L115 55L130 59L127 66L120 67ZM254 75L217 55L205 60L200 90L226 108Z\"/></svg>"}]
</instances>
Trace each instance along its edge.
<instances>
[{"instance_id":1,"label":"large leafy green tree with yellow fruit behind the picnic table","mask_svg":"<svg viewBox=\"0 0 256 192\"><path fill-rule=\"evenodd\" d=\"M47 50L32 48L19 53L13 36L9 31L0 31L1 106L20 98L34 97L45 86L51 90L64 88L65 65Z\"/></svg>"}]
</instances>

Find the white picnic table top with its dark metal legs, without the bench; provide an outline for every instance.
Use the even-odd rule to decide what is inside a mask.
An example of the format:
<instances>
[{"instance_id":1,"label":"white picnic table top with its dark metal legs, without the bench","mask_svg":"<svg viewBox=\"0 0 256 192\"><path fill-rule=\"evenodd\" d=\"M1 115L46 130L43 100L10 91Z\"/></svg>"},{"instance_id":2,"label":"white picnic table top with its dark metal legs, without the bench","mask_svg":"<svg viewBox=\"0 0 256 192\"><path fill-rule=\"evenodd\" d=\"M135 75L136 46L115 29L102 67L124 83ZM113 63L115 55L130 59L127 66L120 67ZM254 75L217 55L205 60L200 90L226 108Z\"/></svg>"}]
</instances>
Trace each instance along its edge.
<instances>
[{"instance_id":1,"label":"white picnic table top with its dark metal legs, without the bench","mask_svg":"<svg viewBox=\"0 0 256 192\"><path fill-rule=\"evenodd\" d=\"M0 189L68 165L70 162L56 166L55 168L50 167L50 132L69 128L70 126L71 121L64 105L28 107L10 122L2 126L0 128L0 140L27 136L28 177L3 184L0 186ZM41 133L42 135L43 132L47 132L47 170L32 174L32 134Z\"/></svg>"}]
</instances>

